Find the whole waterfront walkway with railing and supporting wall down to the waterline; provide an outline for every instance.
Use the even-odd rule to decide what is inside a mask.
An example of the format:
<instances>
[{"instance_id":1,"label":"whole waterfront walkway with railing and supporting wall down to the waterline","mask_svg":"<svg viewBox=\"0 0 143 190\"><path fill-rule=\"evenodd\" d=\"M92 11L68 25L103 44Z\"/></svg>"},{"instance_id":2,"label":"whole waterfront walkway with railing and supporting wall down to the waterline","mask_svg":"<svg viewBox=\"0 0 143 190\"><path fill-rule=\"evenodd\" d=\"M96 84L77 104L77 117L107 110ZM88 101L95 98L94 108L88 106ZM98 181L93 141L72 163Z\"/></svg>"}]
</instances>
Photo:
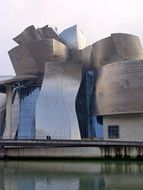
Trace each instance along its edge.
<instances>
[{"instance_id":1,"label":"whole waterfront walkway with railing and supporting wall down to the waterline","mask_svg":"<svg viewBox=\"0 0 143 190\"><path fill-rule=\"evenodd\" d=\"M143 142L97 140L0 140L0 158L143 160Z\"/></svg>"}]
</instances>

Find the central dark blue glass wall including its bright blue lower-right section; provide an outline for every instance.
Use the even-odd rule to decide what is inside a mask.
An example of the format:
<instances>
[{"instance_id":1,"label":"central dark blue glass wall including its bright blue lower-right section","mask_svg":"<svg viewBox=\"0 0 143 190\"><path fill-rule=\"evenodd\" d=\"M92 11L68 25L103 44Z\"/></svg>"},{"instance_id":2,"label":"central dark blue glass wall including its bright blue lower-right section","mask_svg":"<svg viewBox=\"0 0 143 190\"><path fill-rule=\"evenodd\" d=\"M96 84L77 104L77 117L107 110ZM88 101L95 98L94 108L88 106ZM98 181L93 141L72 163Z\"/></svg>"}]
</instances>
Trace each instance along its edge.
<instances>
[{"instance_id":1,"label":"central dark blue glass wall including its bright blue lower-right section","mask_svg":"<svg viewBox=\"0 0 143 190\"><path fill-rule=\"evenodd\" d=\"M102 116L93 116L95 73L86 70L76 98L76 112L82 138L103 138Z\"/></svg>"}]
</instances>

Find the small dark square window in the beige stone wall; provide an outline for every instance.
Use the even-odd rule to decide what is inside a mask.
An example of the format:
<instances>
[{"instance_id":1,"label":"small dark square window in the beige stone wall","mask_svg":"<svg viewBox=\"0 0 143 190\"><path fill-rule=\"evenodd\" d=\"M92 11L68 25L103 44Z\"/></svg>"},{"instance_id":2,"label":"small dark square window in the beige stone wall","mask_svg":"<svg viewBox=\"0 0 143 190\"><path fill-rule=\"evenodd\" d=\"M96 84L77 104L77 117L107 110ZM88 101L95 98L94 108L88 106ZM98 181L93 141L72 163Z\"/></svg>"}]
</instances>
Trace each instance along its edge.
<instances>
[{"instance_id":1,"label":"small dark square window in the beige stone wall","mask_svg":"<svg viewBox=\"0 0 143 190\"><path fill-rule=\"evenodd\" d=\"M108 126L108 138L119 138L119 126L109 125Z\"/></svg>"}]
</instances>

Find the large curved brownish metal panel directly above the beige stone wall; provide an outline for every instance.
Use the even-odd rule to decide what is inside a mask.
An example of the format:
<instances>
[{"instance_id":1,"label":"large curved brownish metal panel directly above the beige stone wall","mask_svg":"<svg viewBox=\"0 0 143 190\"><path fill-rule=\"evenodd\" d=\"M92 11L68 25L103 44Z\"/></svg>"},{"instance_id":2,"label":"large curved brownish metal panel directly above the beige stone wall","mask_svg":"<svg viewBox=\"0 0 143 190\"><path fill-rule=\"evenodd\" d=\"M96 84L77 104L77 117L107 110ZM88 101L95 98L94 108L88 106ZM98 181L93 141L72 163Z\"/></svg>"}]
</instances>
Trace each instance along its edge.
<instances>
[{"instance_id":1,"label":"large curved brownish metal panel directly above the beige stone wall","mask_svg":"<svg viewBox=\"0 0 143 190\"><path fill-rule=\"evenodd\" d=\"M112 63L98 70L95 114L143 112L143 61Z\"/></svg>"}]
</instances>

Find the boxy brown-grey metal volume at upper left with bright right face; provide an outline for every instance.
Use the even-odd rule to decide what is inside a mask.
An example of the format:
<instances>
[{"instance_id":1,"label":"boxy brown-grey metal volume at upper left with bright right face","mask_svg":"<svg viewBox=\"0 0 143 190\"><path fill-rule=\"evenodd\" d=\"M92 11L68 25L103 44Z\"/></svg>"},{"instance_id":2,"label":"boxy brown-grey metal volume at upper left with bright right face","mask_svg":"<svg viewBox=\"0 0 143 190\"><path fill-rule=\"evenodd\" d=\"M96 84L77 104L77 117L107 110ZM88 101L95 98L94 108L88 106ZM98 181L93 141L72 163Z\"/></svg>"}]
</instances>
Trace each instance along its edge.
<instances>
[{"instance_id":1,"label":"boxy brown-grey metal volume at upper left with bright right face","mask_svg":"<svg viewBox=\"0 0 143 190\"><path fill-rule=\"evenodd\" d=\"M65 61L68 48L54 39L37 40L13 48L9 56L17 75L40 75L46 61Z\"/></svg>"}]
</instances>

